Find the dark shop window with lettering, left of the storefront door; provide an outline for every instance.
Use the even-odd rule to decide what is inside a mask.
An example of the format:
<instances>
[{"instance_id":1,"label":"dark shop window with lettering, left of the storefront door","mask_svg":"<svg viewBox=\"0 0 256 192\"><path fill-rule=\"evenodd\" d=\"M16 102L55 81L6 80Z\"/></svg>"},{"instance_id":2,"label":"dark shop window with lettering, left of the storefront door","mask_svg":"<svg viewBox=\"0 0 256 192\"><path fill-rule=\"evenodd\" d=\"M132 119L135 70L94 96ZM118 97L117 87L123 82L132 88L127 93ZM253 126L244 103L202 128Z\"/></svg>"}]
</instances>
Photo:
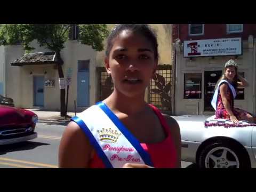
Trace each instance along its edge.
<instances>
[{"instance_id":1,"label":"dark shop window with lettering, left of the storefront door","mask_svg":"<svg viewBox=\"0 0 256 192\"><path fill-rule=\"evenodd\" d=\"M201 99L202 74L184 74L184 99Z\"/></svg>"}]
</instances>

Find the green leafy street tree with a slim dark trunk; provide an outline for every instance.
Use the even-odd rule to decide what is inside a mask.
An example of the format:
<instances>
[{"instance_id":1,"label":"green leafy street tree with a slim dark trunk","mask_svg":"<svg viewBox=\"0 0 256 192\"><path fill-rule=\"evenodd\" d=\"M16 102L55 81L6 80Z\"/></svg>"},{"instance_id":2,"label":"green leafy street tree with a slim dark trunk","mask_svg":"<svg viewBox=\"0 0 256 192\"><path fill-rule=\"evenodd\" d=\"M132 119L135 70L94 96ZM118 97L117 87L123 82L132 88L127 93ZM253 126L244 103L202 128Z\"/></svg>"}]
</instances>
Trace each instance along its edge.
<instances>
[{"instance_id":1,"label":"green leafy street tree with a slim dark trunk","mask_svg":"<svg viewBox=\"0 0 256 192\"><path fill-rule=\"evenodd\" d=\"M0 45L15 45L21 43L26 52L35 49L30 43L37 40L39 46L45 46L47 49L56 52L59 77L64 77L62 65L63 60L60 57L64 44L69 39L69 32L74 24L2 24L0 26ZM96 51L103 50L103 40L108 36L106 24L84 24L79 27L78 41L82 44L92 46ZM65 89L60 90L60 110L61 116L65 116Z\"/></svg>"}]
</instances>

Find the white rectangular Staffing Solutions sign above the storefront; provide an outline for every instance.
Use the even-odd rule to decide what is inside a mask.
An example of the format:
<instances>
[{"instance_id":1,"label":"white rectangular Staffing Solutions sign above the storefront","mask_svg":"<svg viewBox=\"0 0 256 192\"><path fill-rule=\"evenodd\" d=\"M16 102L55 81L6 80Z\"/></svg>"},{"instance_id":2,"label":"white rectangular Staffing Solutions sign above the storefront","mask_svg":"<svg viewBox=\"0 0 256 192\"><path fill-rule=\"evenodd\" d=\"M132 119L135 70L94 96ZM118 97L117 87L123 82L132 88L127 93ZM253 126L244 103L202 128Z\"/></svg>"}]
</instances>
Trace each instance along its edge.
<instances>
[{"instance_id":1,"label":"white rectangular Staffing Solutions sign above the storefront","mask_svg":"<svg viewBox=\"0 0 256 192\"><path fill-rule=\"evenodd\" d=\"M241 37L184 41L184 57L221 55L242 55Z\"/></svg>"}]
</instances>

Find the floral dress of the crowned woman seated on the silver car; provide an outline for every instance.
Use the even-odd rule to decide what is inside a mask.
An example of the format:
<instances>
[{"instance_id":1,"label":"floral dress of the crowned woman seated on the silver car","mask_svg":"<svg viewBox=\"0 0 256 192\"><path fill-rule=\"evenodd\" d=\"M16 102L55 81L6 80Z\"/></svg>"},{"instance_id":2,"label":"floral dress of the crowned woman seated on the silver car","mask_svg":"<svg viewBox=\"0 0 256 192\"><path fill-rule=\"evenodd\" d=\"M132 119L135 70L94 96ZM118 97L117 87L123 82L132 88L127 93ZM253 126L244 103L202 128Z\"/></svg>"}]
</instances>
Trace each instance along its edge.
<instances>
[{"instance_id":1,"label":"floral dress of the crowned woman seated on the silver car","mask_svg":"<svg viewBox=\"0 0 256 192\"><path fill-rule=\"evenodd\" d=\"M228 92L227 92L227 100L230 104L230 107L231 107L231 110L233 111L233 114L236 116L236 118L238 120L242 120L242 119L244 119L243 117L245 115L250 114L250 113L248 113L247 111L245 111L243 109L234 108L234 98L233 98L233 94L231 93L231 90L229 89L229 87L228 87ZM225 107L222 103L220 92L219 92L219 95L218 95L217 110L215 112L215 116L216 116L216 118L230 119L228 111L225 109Z\"/></svg>"}]
</instances>

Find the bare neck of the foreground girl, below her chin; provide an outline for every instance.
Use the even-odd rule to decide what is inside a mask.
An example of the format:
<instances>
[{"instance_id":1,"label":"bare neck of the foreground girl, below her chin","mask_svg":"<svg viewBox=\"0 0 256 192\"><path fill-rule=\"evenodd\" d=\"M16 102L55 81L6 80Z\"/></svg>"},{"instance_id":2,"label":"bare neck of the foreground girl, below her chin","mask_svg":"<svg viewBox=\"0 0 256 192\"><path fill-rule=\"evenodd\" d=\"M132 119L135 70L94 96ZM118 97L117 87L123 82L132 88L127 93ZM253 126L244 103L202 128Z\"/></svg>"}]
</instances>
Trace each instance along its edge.
<instances>
[{"instance_id":1,"label":"bare neck of the foreground girl, below her chin","mask_svg":"<svg viewBox=\"0 0 256 192\"><path fill-rule=\"evenodd\" d=\"M136 97L127 97L126 95L114 92L103 102L113 110L113 112L121 112L127 115L137 114L145 110L147 103L144 100L145 93Z\"/></svg>"}]
</instances>

